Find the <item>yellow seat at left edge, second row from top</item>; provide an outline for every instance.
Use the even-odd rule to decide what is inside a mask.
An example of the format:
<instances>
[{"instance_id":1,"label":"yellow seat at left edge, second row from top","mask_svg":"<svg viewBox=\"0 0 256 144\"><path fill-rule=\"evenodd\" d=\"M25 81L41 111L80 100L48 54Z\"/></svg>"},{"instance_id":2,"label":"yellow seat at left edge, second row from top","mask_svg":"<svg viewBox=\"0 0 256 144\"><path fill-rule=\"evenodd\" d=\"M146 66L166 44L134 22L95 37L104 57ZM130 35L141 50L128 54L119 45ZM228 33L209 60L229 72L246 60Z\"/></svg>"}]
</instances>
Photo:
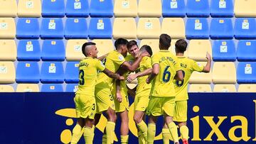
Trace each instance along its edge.
<instances>
[{"instance_id":1,"label":"yellow seat at left edge, second row from top","mask_svg":"<svg viewBox=\"0 0 256 144\"><path fill-rule=\"evenodd\" d=\"M13 39L16 36L14 18L0 18L0 39Z\"/></svg>"}]
</instances>

